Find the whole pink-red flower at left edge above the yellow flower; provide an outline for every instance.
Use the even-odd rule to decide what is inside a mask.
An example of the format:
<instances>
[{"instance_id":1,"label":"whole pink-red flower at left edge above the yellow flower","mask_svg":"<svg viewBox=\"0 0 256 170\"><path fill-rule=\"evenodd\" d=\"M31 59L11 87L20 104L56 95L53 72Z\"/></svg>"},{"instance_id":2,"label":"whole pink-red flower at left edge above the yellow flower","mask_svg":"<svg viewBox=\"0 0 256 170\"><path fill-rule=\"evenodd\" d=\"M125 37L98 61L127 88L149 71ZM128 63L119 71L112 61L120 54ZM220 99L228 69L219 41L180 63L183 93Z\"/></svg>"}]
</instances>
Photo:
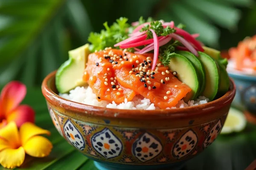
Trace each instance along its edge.
<instances>
[{"instance_id":1,"label":"whole pink-red flower at left edge above the yellow flower","mask_svg":"<svg viewBox=\"0 0 256 170\"><path fill-rule=\"evenodd\" d=\"M20 105L26 96L26 86L21 82L9 82L0 94L0 128L14 121L17 127L25 122L35 122L35 112L28 105Z\"/></svg>"}]
</instances>

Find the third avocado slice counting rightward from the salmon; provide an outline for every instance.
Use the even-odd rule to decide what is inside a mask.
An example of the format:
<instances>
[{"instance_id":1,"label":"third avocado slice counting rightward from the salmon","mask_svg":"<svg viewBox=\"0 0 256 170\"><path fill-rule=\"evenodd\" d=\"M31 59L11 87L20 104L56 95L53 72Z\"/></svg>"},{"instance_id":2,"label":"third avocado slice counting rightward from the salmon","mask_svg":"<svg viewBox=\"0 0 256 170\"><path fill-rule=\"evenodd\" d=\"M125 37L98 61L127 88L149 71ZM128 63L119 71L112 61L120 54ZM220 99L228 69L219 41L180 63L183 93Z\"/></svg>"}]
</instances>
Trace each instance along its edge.
<instances>
[{"instance_id":1,"label":"third avocado slice counting rightward from the salmon","mask_svg":"<svg viewBox=\"0 0 256 170\"><path fill-rule=\"evenodd\" d=\"M203 63L206 73L206 85L202 95L212 101L217 95L220 85L219 66L215 59L209 55L200 51L198 51L198 54L198 58Z\"/></svg>"}]
</instances>

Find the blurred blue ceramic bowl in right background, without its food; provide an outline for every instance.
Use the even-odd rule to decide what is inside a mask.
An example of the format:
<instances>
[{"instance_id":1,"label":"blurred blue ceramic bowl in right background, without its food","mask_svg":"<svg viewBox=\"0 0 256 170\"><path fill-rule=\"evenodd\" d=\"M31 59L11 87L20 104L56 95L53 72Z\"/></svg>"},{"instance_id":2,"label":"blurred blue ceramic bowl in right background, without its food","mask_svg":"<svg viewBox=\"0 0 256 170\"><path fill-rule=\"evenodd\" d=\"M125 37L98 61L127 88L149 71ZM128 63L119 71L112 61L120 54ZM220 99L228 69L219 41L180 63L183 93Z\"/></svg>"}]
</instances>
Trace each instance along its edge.
<instances>
[{"instance_id":1,"label":"blurred blue ceramic bowl in right background, without its food","mask_svg":"<svg viewBox=\"0 0 256 170\"><path fill-rule=\"evenodd\" d=\"M247 114L250 114L247 116L251 116L252 119L253 117L256 119L256 75L244 74L241 71L234 70L228 71L228 74L234 80L237 87L232 105L246 111Z\"/></svg>"}]
</instances>

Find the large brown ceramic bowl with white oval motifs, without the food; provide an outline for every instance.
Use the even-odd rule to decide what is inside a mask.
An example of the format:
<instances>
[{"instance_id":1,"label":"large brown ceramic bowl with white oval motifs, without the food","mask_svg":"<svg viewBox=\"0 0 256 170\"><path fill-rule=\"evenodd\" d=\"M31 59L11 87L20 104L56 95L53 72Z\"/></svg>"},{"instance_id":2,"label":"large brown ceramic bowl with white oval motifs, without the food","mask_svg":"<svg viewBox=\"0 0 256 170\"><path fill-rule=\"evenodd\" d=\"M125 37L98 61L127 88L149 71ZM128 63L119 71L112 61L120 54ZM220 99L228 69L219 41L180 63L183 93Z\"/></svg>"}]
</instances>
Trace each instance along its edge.
<instances>
[{"instance_id":1,"label":"large brown ceramic bowl with white oval motifs, without the food","mask_svg":"<svg viewBox=\"0 0 256 170\"><path fill-rule=\"evenodd\" d=\"M190 108L119 110L72 102L58 96L55 72L42 91L59 133L100 170L180 169L216 139L236 90Z\"/></svg>"}]
</instances>

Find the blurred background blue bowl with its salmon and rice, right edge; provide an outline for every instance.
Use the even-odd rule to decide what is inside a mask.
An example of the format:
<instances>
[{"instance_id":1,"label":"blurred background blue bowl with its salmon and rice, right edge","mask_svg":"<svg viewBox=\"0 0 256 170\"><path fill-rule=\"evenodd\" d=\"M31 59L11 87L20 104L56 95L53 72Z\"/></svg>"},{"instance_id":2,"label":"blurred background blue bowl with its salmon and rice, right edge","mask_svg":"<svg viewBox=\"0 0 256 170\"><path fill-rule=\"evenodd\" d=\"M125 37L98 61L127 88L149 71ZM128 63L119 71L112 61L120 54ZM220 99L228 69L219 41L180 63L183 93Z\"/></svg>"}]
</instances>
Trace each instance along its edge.
<instances>
[{"instance_id":1,"label":"blurred background blue bowl with its salmon and rice, right edge","mask_svg":"<svg viewBox=\"0 0 256 170\"><path fill-rule=\"evenodd\" d=\"M237 86L233 105L256 123L256 35L246 37L237 47L230 48L228 54L227 71Z\"/></svg>"}]
</instances>

